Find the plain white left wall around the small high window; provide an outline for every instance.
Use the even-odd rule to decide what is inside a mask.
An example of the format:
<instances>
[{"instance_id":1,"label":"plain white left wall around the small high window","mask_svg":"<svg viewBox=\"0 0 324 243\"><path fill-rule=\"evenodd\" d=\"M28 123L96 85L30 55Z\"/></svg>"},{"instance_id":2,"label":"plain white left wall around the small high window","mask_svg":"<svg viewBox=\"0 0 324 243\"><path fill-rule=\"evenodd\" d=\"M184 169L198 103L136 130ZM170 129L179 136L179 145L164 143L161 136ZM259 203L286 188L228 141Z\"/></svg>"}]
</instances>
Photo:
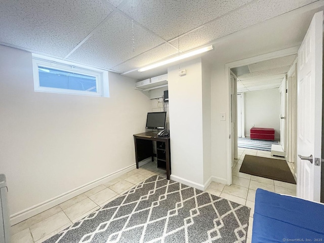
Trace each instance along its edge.
<instances>
[{"instance_id":1,"label":"plain white left wall around the small high window","mask_svg":"<svg viewBox=\"0 0 324 243\"><path fill-rule=\"evenodd\" d=\"M109 73L110 98L34 92L31 53L0 46L0 173L12 216L135 165L132 135L151 103L134 86Z\"/></svg>"}]
</instances>

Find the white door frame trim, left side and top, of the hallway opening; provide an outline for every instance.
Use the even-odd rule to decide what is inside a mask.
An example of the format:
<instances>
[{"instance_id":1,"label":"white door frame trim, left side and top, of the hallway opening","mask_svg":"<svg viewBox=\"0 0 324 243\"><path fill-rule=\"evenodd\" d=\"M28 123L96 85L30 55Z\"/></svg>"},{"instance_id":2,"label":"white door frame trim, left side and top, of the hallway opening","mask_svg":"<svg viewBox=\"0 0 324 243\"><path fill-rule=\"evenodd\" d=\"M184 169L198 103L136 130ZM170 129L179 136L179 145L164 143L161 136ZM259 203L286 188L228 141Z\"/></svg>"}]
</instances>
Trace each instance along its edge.
<instances>
[{"instance_id":1,"label":"white door frame trim, left side and top, of the hallway opening","mask_svg":"<svg viewBox=\"0 0 324 243\"><path fill-rule=\"evenodd\" d=\"M230 69L234 68L234 67L240 67L240 66L245 66L245 65L250 65L256 62L261 62L261 61L267 61L273 58L278 58L278 57L285 57L285 56L290 56L290 55L294 55L294 54L298 54L298 49L299 46L295 46L295 47L291 47L291 48L287 48L287 49L283 49L283 50L279 50L276 52L270 52L267 54L263 54L263 55L259 55L259 56L255 56L255 57L251 57L251 58L247 58L247 59L243 59L243 60L239 60L239 61L235 61L235 62L230 62L230 63L226 63L225 64L225 79L226 81L226 89L227 89L227 98L226 98L226 113L229 114L229 119L227 120L226 123L226 131L228 134L228 141L226 143L226 147L227 147L227 184L230 185L232 184L232 161L234 160L234 157L232 156L232 142L234 143L234 137L235 134L231 133L231 110L230 110L230 105L231 105L231 90L230 90ZM237 121L235 121L237 124Z\"/></svg>"}]
</instances>

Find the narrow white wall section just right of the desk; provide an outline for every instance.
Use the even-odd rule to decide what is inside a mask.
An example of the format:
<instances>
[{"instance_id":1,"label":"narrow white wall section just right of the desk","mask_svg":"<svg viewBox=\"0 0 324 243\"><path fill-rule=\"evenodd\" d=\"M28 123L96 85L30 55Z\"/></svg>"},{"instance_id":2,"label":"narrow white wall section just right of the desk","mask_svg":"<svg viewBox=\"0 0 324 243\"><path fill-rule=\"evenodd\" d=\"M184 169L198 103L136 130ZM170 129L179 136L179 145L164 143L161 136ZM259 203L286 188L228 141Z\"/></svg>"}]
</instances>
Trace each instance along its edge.
<instances>
[{"instance_id":1,"label":"narrow white wall section just right of the desk","mask_svg":"<svg viewBox=\"0 0 324 243\"><path fill-rule=\"evenodd\" d=\"M204 184L203 87L201 59L168 68L172 179L191 186Z\"/></svg>"}]
</instances>

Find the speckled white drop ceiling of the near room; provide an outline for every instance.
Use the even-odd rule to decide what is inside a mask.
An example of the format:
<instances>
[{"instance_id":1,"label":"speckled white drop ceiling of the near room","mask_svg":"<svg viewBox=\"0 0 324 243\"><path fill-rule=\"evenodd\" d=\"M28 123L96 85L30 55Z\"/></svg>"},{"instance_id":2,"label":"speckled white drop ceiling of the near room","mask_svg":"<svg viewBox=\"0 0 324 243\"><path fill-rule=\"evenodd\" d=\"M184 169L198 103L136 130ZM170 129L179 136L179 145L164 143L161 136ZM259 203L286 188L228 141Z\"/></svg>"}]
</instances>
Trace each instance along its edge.
<instances>
[{"instance_id":1,"label":"speckled white drop ceiling of the near room","mask_svg":"<svg viewBox=\"0 0 324 243\"><path fill-rule=\"evenodd\" d=\"M323 0L0 0L0 4L0 44L137 79L152 74L137 72L148 64L311 5L324 6ZM282 22L286 23L289 19ZM289 37L300 42L300 33L294 33ZM210 58L213 62L217 57ZM165 71L166 67L156 72Z\"/></svg>"}]
</instances>

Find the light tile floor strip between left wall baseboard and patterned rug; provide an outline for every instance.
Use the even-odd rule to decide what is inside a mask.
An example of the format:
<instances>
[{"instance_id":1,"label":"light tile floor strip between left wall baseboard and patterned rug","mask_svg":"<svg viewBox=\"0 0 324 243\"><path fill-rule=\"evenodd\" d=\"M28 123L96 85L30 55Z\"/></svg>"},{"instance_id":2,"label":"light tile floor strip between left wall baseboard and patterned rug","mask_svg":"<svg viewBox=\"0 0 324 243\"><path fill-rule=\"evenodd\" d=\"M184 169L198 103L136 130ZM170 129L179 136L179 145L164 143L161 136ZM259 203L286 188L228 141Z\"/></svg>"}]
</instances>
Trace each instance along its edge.
<instances>
[{"instance_id":1,"label":"light tile floor strip between left wall baseboard and patterned rug","mask_svg":"<svg viewBox=\"0 0 324 243\"><path fill-rule=\"evenodd\" d=\"M149 163L75 196L11 227L12 243L40 243L124 194L152 175L166 172Z\"/></svg>"}]
</instances>

